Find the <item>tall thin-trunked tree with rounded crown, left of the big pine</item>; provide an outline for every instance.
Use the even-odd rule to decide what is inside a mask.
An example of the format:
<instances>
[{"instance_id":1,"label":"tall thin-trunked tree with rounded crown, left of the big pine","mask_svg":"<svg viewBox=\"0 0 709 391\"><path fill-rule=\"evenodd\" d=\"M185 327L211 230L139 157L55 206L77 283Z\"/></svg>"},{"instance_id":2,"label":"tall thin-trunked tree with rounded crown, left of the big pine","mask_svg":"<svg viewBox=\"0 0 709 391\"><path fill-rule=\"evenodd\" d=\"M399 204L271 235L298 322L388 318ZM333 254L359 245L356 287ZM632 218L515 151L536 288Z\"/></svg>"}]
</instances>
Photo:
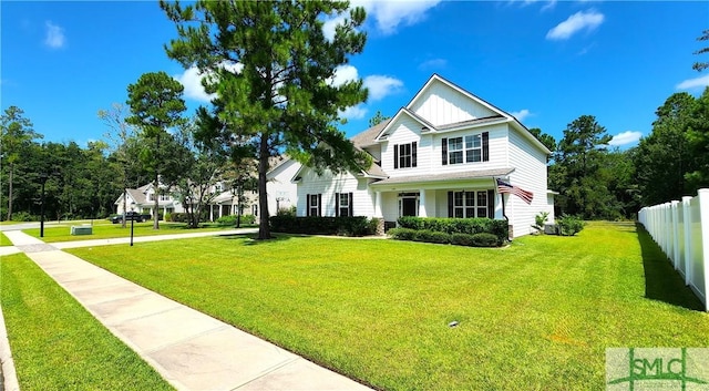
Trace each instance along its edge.
<instances>
[{"instance_id":1,"label":"tall thin-trunked tree with rounded crown, left of the big pine","mask_svg":"<svg viewBox=\"0 0 709 391\"><path fill-rule=\"evenodd\" d=\"M127 104L133 115L125 121L137 126L150 144L142 154L142 162L153 168L155 188L153 229L160 229L160 177L163 158L165 158L161 154L161 138L169 137L167 130L185 122L182 117L187 109L182 99L184 86L161 71L141 75L135 84L129 85L127 90Z\"/></svg>"}]
</instances>

